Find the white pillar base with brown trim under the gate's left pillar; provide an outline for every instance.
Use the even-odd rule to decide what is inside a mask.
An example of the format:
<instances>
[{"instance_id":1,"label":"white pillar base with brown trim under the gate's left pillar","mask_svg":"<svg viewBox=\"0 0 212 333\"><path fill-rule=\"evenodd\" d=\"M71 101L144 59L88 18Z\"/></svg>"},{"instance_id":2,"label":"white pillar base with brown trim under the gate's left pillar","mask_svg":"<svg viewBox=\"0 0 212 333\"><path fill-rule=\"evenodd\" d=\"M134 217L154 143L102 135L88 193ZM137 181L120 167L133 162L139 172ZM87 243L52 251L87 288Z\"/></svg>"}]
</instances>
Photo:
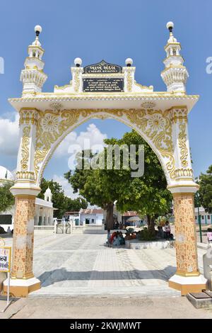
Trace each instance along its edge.
<instances>
[{"instance_id":1,"label":"white pillar base with brown trim under the gate's left pillar","mask_svg":"<svg viewBox=\"0 0 212 333\"><path fill-rule=\"evenodd\" d=\"M3 283L3 293L6 295L8 279ZM13 297L27 297L29 293L40 289L40 280L38 278L11 278L10 295Z\"/></svg>"}]
</instances>

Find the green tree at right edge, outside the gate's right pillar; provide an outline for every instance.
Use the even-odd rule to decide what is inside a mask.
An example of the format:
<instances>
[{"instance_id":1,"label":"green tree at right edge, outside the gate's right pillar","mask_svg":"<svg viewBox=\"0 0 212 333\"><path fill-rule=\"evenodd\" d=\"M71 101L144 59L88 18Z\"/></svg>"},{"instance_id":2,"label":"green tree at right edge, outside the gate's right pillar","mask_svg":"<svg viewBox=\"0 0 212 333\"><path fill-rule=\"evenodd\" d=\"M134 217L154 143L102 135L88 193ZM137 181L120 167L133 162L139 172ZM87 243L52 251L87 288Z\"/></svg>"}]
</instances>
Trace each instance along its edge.
<instances>
[{"instance_id":1,"label":"green tree at right edge, outside the gate's right pillar","mask_svg":"<svg viewBox=\"0 0 212 333\"><path fill-rule=\"evenodd\" d=\"M212 213L212 165L206 174L201 173L199 176L199 202L206 212Z\"/></svg>"}]
</instances>

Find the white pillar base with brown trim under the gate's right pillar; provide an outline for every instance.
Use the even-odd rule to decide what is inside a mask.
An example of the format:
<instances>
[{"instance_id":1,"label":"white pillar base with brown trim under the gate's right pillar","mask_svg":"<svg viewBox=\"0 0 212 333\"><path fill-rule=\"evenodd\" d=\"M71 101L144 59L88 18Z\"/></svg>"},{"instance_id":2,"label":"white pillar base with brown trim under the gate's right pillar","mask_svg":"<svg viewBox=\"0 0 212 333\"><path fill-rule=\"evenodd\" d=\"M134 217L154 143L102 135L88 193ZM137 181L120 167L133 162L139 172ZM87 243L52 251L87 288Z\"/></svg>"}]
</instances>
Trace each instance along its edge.
<instances>
[{"instance_id":1,"label":"white pillar base with brown trim under the gate's right pillar","mask_svg":"<svg viewBox=\"0 0 212 333\"><path fill-rule=\"evenodd\" d=\"M204 276L180 276L175 274L169 280L169 287L179 290L181 295L187 293L200 293L206 290L207 280Z\"/></svg>"}]
</instances>

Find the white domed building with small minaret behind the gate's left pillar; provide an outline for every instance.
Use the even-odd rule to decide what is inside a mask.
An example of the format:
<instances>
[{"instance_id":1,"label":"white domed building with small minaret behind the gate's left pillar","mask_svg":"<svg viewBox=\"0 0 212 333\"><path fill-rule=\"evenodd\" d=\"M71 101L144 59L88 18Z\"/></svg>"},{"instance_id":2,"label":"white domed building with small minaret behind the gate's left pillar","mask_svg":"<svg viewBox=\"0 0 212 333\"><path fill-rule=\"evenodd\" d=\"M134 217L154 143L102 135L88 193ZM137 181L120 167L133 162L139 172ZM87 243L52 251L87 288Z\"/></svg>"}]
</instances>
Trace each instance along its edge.
<instances>
[{"instance_id":1,"label":"white domed building with small minaret behind the gate's left pillar","mask_svg":"<svg viewBox=\"0 0 212 333\"><path fill-rule=\"evenodd\" d=\"M4 186L8 182L12 184L14 180L11 171L4 166L0 166L0 186ZM5 212L0 212L0 227L4 227L5 231L8 230L8 227L10 227L11 231L13 230L14 213L15 205ZM52 192L50 188L47 188L45 200L40 198L35 199L35 225L54 225L53 213Z\"/></svg>"}]
</instances>

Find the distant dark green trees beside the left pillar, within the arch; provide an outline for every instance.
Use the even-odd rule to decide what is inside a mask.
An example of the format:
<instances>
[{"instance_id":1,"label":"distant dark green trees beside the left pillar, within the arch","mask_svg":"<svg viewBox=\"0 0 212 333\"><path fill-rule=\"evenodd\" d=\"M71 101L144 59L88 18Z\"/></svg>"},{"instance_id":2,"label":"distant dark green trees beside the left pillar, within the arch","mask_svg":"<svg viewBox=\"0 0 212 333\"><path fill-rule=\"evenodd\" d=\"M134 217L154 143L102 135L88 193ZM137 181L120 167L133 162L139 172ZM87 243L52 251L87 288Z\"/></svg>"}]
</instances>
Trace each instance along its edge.
<instances>
[{"instance_id":1,"label":"distant dark green trees beside the left pillar, within the arch","mask_svg":"<svg viewBox=\"0 0 212 333\"><path fill-rule=\"evenodd\" d=\"M50 188L52 191L52 203L54 208L54 218L62 218L66 211L70 210L80 210L81 208L87 208L88 203L84 198L71 199L64 195L64 190L62 186L57 183L57 181L47 181L42 179L40 184L41 192L38 194L38 198L45 198L45 191L47 188Z\"/></svg>"}]
</instances>

